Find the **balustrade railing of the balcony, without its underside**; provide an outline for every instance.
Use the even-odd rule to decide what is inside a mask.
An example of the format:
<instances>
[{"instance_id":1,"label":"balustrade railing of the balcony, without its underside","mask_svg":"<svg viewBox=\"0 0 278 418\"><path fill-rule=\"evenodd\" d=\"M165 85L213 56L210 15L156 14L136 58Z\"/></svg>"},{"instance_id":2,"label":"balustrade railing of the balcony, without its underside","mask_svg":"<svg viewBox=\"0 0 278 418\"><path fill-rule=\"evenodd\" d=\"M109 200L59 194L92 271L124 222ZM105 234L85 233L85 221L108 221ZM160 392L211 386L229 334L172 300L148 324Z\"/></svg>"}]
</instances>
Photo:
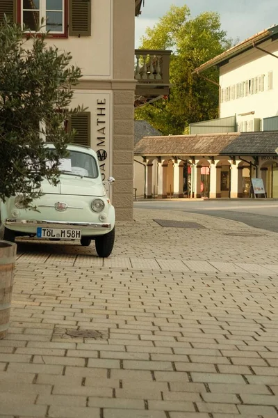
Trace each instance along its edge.
<instances>
[{"instance_id":1,"label":"balustrade railing of the balcony, without its underside","mask_svg":"<svg viewBox=\"0 0 278 418\"><path fill-rule=\"evenodd\" d=\"M139 84L170 84L171 51L136 49L134 78Z\"/></svg>"}]
</instances>

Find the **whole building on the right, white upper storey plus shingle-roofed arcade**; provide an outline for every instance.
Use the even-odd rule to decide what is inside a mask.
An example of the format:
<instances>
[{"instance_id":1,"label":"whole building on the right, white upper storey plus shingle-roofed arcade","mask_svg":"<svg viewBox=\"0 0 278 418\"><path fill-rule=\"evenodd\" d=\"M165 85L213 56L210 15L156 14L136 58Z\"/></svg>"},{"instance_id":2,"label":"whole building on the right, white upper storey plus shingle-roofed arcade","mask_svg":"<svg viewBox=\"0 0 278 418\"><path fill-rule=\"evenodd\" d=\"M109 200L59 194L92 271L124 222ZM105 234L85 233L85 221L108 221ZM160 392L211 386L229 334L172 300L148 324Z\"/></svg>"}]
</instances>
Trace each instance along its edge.
<instances>
[{"instance_id":1,"label":"whole building on the right, white upper storey plus shingle-roofed arcade","mask_svg":"<svg viewBox=\"0 0 278 418\"><path fill-rule=\"evenodd\" d=\"M219 67L220 118L192 124L190 135L139 141L147 197L248 197L252 178L278 197L277 58L272 26L196 68L202 77Z\"/></svg>"}]
</instances>

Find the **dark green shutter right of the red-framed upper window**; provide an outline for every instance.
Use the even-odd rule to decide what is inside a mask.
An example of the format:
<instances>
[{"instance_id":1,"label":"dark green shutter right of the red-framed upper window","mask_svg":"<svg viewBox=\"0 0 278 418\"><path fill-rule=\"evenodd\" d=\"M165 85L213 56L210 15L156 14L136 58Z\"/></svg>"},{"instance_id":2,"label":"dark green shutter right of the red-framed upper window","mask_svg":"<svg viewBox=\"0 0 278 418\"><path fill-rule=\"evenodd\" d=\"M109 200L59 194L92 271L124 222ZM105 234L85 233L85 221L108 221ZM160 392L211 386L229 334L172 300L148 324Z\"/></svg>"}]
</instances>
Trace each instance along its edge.
<instances>
[{"instance_id":1,"label":"dark green shutter right of the red-framed upper window","mask_svg":"<svg viewBox=\"0 0 278 418\"><path fill-rule=\"evenodd\" d=\"M91 35L92 0L70 0L70 36Z\"/></svg>"}]
</instances>

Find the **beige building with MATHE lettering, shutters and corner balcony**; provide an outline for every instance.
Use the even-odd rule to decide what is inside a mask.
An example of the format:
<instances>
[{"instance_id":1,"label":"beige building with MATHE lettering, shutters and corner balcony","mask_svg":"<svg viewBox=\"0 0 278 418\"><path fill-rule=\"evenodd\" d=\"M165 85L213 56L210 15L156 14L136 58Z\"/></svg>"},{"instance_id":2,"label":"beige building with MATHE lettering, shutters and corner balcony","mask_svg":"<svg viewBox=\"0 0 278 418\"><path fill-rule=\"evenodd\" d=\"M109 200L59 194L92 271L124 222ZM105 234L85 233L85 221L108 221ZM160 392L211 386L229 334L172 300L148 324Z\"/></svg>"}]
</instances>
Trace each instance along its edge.
<instances>
[{"instance_id":1,"label":"beige building with MATHE lettering, shutters and corner balcony","mask_svg":"<svg viewBox=\"0 0 278 418\"><path fill-rule=\"evenodd\" d=\"M72 106L88 109L69 125L76 143L98 152L103 178L115 177L113 204L125 220L133 218L134 105L169 91L170 52L134 50L141 7L142 0L0 0L0 20L9 15L35 32L43 17L49 45L71 52L81 68Z\"/></svg>"}]
</instances>

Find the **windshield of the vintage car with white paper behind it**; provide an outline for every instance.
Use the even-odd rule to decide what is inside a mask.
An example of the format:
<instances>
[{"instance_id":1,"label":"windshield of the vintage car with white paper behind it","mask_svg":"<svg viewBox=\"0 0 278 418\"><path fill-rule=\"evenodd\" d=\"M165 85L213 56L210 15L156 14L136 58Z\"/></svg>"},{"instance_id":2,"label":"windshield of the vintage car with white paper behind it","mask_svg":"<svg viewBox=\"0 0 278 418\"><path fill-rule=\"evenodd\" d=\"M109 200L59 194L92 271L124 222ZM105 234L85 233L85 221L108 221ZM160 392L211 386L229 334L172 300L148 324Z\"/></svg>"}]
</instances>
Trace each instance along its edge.
<instances>
[{"instance_id":1,"label":"windshield of the vintage car with white paper behind it","mask_svg":"<svg viewBox=\"0 0 278 418\"><path fill-rule=\"evenodd\" d=\"M97 178L97 161L90 154L70 150L70 156L60 160L59 170L71 176Z\"/></svg>"}]
</instances>

